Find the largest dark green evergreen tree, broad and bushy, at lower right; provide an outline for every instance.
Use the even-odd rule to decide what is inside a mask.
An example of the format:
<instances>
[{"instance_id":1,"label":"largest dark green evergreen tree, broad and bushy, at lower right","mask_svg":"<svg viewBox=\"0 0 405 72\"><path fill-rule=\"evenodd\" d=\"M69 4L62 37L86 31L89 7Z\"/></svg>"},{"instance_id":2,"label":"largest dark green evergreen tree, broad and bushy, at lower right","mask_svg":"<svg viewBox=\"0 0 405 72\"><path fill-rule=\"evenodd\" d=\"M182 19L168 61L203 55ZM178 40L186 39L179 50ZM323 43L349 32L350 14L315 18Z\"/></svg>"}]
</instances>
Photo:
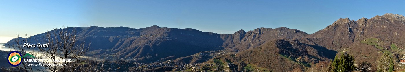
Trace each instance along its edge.
<instances>
[{"instance_id":1,"label":"largest dark green evergreen tree, broad and bushy, at lower right","mask_svg":"<svg viewBox=\"0 0 405 72\"><path fill-rule=\"evenodd\" d=\"M354 58L349 54L342 53L340 57L336 57L330 65L333 72L350 72L354 67Z\"/></svg>"}]
</instances>

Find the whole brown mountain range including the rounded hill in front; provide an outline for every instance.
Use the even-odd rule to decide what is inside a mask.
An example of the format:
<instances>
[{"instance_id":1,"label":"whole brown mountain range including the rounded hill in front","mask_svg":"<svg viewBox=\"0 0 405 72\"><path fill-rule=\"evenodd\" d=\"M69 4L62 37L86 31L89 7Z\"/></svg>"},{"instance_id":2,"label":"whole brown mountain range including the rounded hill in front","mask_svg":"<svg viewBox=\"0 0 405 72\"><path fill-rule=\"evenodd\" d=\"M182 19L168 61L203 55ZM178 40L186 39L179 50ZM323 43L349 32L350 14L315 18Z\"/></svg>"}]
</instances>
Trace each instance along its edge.
<instances>
[{"instance_id":1,"label":"whole brown mountain range including the rounded hill in front","mask_svg":"<svg viewBox=\"0 0 405 72\"><path fill-rule=\"evenodd\" d=\"M334 59L336 54L344 52L354 55L356 61L374 62L383 52L396 53L405 47L405 19L394 14L358 20L341 18L313 34L285 27L257 28L247 32L239 30L234 34L216 34L191 28L160 28L156 25L141 29L96 26L67 29L76 30L79 40L91 42L87 55L92 57L113 57L110 59L141 63L176 59L187 64L226 59L235 66L249 64L276 72L292 71L302 65ZM44 35L30 38L34 42ZM14 43L13 39L6 44ZM234 54L207 59L194 56L219 50ZM303 60L296 61L296 58Z\"/></svg>"}]
</instances>

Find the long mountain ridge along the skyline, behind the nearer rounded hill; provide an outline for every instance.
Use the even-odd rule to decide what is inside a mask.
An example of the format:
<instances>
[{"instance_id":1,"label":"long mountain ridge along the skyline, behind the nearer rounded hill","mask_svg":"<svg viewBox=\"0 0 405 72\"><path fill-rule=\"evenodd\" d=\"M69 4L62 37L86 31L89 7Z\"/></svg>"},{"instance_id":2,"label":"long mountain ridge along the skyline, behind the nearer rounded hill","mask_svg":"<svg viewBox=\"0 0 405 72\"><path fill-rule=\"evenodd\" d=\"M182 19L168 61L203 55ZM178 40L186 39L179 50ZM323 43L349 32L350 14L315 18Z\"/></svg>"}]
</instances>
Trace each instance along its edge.
<instances>
[{"instance_id":1,"label":"long mountain ridge along the skyline, behind the nearer rounded hill","mask_svg":"<svg viewBox=\"0 0 405 72\"><path fill-rule=\"evenodd\" d=\"M239 30L233 34L202 32L192 28L160 28L157 25L139 29L127 27L101 28L97 26L65 29L76 30L79 40L92 42L93 45L90 44L91 51L87 54L89 56L114 57L111 59L151 63L177 59L205 51L241 52L252 50L266 42L277 39L320 46L337 52L346 49L356 50L351 49L351 47L367 38L377 38L386 44L394 44L403 48L402 46L405 46L402 44L405 41L405 31L403 31L405 30L405 23L403 19L402 15L394 14L377 15L370 19L363 17L356 21L349 18L340 18L328 27L313 34L286 27L275 29L256 28L247 32ZM44 33L41 33L30 38L34 42L34 40L41 39L44 35ZM6 44L13 44L14 40L10 40ZM391 49L386 50L393 51Z\"/></svg>"}]
</instances>

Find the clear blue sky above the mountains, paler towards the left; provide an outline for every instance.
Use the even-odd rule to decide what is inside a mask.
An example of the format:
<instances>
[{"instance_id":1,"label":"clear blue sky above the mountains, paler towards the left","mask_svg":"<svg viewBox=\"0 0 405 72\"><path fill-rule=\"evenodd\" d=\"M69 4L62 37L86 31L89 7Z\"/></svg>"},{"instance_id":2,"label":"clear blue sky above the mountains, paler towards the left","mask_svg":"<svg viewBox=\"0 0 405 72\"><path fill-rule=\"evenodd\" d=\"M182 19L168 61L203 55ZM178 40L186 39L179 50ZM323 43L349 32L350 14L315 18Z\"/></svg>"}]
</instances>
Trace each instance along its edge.
<instances>
[{"instance_id":1,"label":"clear blue sky above the mountains, paler towards the left","mask_svg":"<svg viewBox=\"0 0 405 72\"><path fill-rule=\"evenodd\" d=\"M232 34L238 30L287 27L308 34L339 18L358 20L385 13L404 15L404 0L0 0L0 43L60 28L193 28Z\"/></svg>"}]
</instances>

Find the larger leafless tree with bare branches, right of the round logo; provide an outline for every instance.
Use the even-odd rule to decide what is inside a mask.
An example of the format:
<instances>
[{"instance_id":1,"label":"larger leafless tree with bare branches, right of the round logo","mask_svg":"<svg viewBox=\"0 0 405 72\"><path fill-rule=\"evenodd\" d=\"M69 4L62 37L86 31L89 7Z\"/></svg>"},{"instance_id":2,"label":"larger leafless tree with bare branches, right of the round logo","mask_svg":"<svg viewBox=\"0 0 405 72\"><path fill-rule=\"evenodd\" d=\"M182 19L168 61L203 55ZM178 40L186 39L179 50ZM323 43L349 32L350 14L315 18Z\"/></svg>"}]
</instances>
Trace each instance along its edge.
<instances>
[{"instance_id":1,"label":"larger leafless tree with bare branches, right of the round logo","mask_svg":"<svg viewBox=\"0 0 405 72\"><path fill-rule=\"evenodd\" d=\"M67 66L46 66L52 72L73 72L79 66L86 51L89 50L89 44L85 41L77 42L76 30L73 28L54 28L53 31L45 33L44 41L49 43L48 48L39 48L43 54L38 59L72 59L72 61L44 61L44 64L61 64ZM70 68L70 69L68 69Z\"/></svg>"}]
</instances>

